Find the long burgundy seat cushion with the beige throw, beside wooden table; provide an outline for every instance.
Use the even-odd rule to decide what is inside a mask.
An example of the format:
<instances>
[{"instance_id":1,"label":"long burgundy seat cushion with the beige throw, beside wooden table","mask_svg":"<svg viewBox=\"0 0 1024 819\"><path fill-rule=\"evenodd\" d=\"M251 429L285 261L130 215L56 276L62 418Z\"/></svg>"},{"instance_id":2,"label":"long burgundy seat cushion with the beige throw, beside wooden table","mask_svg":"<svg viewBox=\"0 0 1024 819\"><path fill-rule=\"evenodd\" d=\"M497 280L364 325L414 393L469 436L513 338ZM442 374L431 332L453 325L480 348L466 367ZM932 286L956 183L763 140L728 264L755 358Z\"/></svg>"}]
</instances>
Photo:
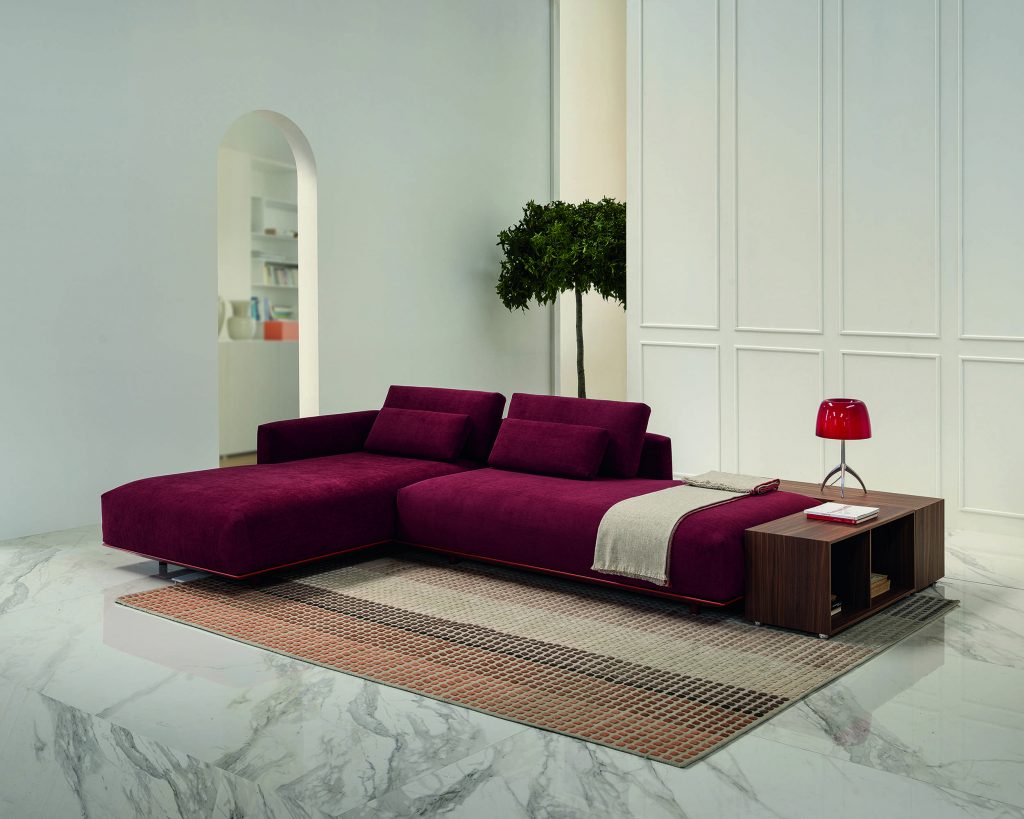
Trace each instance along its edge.
<instances>
[{"instance_id":1,"label":"long burgundy seat cushion with the beige throw, beside wooden table","mask_svg":"<svg viewBox=\"0 0 1024 819\"><path fill-rule=\"evenodd\" d=\"M688 516L673 541L667 589L592 571L604 513L618 501L678 484L474 470L400 489L399 537L465 555L721 602L743 594L743 530L813 505L803 495L776 491Z\"/></svg>"}]
</instances>

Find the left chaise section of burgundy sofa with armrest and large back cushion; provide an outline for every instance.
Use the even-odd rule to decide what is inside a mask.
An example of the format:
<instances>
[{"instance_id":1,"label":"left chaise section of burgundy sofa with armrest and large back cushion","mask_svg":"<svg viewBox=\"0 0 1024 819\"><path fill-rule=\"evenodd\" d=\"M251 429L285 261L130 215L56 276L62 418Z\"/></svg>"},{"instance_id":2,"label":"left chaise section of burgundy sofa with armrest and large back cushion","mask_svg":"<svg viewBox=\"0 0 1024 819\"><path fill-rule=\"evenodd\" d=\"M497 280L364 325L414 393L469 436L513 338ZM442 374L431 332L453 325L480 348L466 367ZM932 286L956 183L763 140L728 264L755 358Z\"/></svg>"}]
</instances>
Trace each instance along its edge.
<instances>
[{"instance_id":1,"label":"left chaise section of burgundy sofa with armrest and large back cushion","mask_svg":"<svg viewBox=\"0 0 1024 819\"><path fill-rule=\"evenodd\" d=\"M392 387L383 410L465 419L465 443L446 460L367 451L378 411L266 424L255 466L145 478L105 492L103 543L248 577L391 541L397 490L481 468L504 406L495 392Z\"/></svg>"}]
</instances>

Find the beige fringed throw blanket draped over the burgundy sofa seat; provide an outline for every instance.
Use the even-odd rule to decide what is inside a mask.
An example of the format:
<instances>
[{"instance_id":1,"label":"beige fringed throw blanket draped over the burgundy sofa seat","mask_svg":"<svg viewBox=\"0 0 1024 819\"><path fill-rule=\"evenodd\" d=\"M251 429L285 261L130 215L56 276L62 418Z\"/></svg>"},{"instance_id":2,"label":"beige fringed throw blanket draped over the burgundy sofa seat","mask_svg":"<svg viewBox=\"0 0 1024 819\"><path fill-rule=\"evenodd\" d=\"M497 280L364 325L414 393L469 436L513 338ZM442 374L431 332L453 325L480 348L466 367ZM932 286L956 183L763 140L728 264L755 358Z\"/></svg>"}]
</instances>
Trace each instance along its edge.
<instances>
[{"instance_id":1,"label":"beige fringed throw blanket draped over the burgundy sofa seat","mask_svg":"<svg viewBox=\"0 0 1024 819\"><path fill-rule=\"evenodd\" d=\"M669 585L669 555L679 523L700 509L761 491L778 481L752 475L707 472L672 486L620 501L604 513L594 547L594 571ZM700 485L694 485L696 481ZM774 483L774 485L771 485ZM714 485L715 488L708 488Z\"/></svg>"}]
</instances>

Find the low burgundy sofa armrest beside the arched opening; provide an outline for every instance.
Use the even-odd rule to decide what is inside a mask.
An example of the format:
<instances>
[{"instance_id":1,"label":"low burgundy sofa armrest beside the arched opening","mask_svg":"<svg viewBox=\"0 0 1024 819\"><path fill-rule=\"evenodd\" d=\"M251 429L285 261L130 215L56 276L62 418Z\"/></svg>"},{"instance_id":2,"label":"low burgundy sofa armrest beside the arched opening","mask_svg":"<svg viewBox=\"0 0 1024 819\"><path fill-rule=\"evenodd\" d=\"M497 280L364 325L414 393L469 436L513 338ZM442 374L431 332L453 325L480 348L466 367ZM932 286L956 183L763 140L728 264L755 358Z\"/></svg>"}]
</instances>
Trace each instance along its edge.
<instances>
[{"instance_id":1,"label":"low burgundy sofa armrest beside the arched opening","mask_svg":"<svg viewBox=\"0 0 1024 819\"><path fill-rule=\"evenodd\" d=\"M256 463L280 464L362 448L377 410L339 413L261 424L256 432Z\"/></svg>"}]
</instances>

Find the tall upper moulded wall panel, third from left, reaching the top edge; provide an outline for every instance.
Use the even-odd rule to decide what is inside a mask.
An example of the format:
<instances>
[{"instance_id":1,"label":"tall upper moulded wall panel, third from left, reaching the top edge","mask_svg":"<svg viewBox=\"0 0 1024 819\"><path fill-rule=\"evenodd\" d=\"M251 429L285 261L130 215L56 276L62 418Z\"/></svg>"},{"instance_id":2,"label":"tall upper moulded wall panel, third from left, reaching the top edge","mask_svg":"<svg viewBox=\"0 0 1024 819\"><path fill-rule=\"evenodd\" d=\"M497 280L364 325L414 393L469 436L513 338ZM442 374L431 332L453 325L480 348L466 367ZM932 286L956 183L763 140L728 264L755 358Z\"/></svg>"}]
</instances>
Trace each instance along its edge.
<instances>
[{"instance_id":1,"label":"tall upper moulded wall panel, third from left, reaching the top edge","mask_svg":"<svg viewBox=\"0 0 1024 819\"><path fill-rule=\"evenodd\" d=\"M843 330L937 335L936 0L842 9Z\"/></svg>"}]
</instances>

